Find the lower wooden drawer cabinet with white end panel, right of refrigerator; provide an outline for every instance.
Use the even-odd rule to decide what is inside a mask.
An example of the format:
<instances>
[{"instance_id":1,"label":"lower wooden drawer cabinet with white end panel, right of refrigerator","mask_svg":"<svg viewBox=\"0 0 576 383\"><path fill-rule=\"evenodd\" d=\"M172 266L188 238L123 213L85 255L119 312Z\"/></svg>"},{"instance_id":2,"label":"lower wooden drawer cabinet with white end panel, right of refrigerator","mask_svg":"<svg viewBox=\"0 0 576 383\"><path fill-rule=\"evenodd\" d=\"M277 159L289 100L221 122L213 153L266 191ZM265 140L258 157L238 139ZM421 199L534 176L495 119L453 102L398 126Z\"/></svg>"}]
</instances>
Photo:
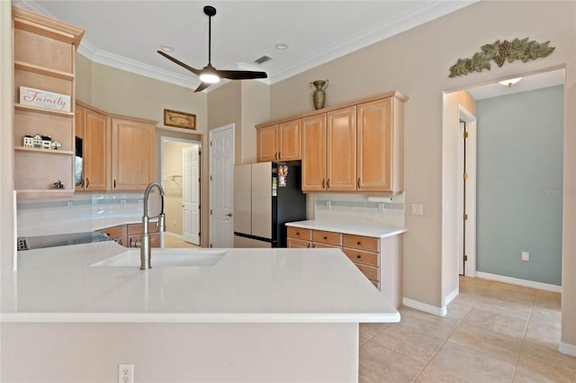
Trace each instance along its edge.
<instances>
[{"instance_id":1,"label":"lower wooden drawer cabinet with white end panel, right of refrigerator","mask_svg":"<svg viewBox=\"0 0 576 383\"><path fill-rule=\"evenodd\" d=\"M365 274L394 307L402 304L401 236L376 238L333 231L288 227L289 248L336 247Z\"/></svg>"}]
</instances>

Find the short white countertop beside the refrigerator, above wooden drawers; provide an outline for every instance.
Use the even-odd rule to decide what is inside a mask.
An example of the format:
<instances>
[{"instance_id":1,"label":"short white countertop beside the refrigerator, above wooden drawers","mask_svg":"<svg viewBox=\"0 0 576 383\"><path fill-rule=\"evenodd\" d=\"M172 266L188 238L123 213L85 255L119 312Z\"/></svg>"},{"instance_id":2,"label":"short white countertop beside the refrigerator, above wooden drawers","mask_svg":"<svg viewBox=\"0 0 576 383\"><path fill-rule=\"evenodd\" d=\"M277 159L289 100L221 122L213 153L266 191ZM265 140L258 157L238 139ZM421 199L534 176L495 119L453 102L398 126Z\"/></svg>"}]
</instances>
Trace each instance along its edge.
<instances>
[{"instance_id":1,"label":"short white countertop beside the refrigerator, above wooden drawers","mask_svg":"<svg viewBox=\"0 0 576 383\"><path fill-rule=\"evenodd\" d=\"M311 230L337 231L338 233L350 234L353 236L372 236L375 238L385 238L387 236L397 236L406 233L408 230L403 227L385 227L370 224L358 224L349 222L329 222L309 219L305 221L289 222L289 227L301 227Z\"/></svg>"}]
</instances>

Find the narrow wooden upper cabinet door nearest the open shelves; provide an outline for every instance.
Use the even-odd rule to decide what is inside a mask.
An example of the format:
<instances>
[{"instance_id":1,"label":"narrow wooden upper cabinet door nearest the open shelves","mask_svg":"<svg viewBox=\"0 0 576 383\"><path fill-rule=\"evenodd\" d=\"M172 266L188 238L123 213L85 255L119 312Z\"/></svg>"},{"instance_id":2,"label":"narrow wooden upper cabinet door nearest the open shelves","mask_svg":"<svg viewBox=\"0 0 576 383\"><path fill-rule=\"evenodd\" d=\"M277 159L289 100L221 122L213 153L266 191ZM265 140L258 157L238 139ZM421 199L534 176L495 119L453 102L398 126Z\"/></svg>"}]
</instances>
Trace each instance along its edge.
<instances>
[{"instance_id":1,"label":"narrow wooden upper cabinet door nearest the open shelves","mask_svg":"<svg viewBox=\"0 0 576 383\"><path fill-rule=\"evenodd\" d=\"M110 179L110 125L108 117L85 109L84 115L84 188L105 191Z\"/></svg>"}]
</instances>

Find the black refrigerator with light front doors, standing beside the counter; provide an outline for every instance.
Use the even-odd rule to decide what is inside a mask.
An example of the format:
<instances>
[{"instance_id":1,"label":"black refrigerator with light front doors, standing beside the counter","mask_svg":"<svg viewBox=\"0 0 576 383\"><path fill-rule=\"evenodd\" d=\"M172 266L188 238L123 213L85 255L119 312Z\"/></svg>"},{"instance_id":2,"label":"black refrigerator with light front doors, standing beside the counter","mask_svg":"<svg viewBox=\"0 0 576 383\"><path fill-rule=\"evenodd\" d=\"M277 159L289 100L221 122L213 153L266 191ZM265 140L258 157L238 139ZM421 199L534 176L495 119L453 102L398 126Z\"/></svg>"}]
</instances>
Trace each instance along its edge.
<instances>
[{"instance_id":1,"label":"black refrigerator with light front doors, standing beside the counter","mask_svg":"<svg viewBox=\"0 0 576 383\"><path fill-rule=\"evenodd\" d=\"M234 247L286 247L286 222L306 219L300 163L234 169Z\"/></svg>"}]
</instances>

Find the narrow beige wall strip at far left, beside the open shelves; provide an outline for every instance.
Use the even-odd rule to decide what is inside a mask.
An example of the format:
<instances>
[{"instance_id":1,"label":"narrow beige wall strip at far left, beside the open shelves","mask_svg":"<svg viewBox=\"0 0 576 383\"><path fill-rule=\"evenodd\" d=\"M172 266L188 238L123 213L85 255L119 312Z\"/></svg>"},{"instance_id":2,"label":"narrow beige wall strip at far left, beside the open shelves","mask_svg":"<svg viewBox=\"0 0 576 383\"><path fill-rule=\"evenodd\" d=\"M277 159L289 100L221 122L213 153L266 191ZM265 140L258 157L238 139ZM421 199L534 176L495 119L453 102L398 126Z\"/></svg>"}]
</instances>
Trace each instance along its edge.
<instances>
[{"instance_id":1,"label":"narrow beige wall strip at far left, beside the open shelves","mask_svg":"<svg viewBox=\"0 0 576 383\"><path fill-rule=\"evenodd\" d=\"M14 254L14 69L12 4L0 1L0 272L12 272Z\"/></svg>"}]
</instances>

